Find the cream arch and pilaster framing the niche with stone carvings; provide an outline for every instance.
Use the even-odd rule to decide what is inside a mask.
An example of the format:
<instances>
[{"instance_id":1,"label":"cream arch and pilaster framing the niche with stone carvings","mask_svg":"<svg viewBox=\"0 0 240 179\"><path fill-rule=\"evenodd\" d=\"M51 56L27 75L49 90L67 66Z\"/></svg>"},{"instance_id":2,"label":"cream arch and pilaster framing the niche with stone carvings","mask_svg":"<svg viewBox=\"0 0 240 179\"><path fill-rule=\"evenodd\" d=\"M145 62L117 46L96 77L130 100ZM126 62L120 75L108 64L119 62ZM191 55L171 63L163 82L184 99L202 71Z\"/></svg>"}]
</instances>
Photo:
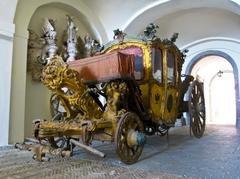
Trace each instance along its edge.
<instances>
[{"instance_id":1,"label":"cream arch and pilaster framing the niche with stone carvings","mask_svg":"<svg viewBox=\"0 0 240 179\"><path fill-rule=\"evenodd\" d=\"M35 11L42 6L55 6L71 12L70 14L75 13L76 16L84 17L85 25L97 39L104 41L107 38L98 17L94 16L94 13L81 1L18 1L14 19L16 30L13 47L9 143L23 141L24 131L29 128L25 126L28 26Z\"/></svg>"}]
</instances>

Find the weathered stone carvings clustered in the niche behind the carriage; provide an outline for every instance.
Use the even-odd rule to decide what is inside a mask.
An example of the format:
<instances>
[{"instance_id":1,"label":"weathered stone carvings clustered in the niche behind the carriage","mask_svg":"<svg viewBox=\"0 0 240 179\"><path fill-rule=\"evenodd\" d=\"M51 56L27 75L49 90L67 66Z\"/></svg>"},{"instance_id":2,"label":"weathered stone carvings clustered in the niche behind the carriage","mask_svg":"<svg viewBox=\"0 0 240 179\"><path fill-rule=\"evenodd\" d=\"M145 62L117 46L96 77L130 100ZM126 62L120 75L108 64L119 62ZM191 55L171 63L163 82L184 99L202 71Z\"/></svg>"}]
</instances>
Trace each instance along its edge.
<instances>
[{"instance_id":1,"label":"weathered stone carvings clustered in the niche behind the carriage","mask_svg":"<svg viewBox=\"0 0 240 179\"><path fill-rule=\"evenodd\" d=\"M41 35L29 30L27 71L32 73L33 80L40 81L43 67L49 64L56 55L61 56L65 62L73 61L93 56L102 48L99 42L89 34L84 37L83 41L77 35L78 27L73 18L66 16L67 28L63 31L62 37L58 37L61 39L58 45L54 19L44 18Z\"/></svg>"}]
</instances>

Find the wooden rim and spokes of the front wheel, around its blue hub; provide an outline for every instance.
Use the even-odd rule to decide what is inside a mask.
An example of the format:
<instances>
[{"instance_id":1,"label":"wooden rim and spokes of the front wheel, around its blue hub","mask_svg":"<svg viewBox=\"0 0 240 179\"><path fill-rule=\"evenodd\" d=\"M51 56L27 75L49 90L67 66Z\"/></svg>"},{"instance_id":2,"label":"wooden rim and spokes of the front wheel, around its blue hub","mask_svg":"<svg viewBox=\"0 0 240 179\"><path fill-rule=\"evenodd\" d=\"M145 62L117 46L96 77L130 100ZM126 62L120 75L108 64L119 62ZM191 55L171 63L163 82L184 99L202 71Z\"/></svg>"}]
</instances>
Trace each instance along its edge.
<instances>
[{"instance_id":1,"label":"wooden rim and spokes of the front wheel, around its blue hub","mask_svg":"<svg viewBox=\"0 0 240 179\"><path fill-rule=\"evenodd\" d=\"M116 153L122 162L135 163L140 157L143 145L129 146L127 143L128 132L134 130L144 132L144 127L139 117L134 113L126 113L118 122L115 134Z\"/></svg>"}]
</instances>

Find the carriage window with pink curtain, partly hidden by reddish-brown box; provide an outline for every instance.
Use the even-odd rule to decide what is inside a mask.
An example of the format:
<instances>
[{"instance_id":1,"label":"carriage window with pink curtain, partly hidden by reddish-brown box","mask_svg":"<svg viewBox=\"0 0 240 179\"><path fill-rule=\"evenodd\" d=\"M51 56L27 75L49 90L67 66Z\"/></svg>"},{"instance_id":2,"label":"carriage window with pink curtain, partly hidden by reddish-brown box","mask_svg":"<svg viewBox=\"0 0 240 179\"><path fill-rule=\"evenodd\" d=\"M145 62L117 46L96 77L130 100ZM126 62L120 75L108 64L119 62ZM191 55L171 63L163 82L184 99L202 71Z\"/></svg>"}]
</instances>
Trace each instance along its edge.
<instances>
[{"instance_id":1,"label":"carriage window with pink curtain, partly hidden by reddish-brown box","mask_svg":"<svg viewBox=\"0 0 240 179\"><path fill-rule=\"evenodd\" d=\"M135 70L134 77L136 80L141 80L144 77L144 67L143 67L143 51L139 47L129 47L120 50L121 53L134 54L135 56Z\"/></svg>"}]
</instances>

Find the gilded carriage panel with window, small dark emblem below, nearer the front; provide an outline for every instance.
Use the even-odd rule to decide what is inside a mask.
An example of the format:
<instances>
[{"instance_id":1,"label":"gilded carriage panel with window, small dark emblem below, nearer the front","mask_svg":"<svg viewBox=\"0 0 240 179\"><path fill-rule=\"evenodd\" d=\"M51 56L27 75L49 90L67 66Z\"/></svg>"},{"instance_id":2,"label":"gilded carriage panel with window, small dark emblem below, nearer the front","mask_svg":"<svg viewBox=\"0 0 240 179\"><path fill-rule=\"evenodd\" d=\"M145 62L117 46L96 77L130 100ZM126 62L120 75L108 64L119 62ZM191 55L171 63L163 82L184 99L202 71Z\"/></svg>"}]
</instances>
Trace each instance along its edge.
<instances>
[{"instance_id":1,"label":"gilded carriage panel with window, small dark emblem below, nearer the front","mask_svg":"<svg viewBox=\"0 0 240 179\"><path fill-rule=\"evenodd\" d=\"M158 122L162 119L164 112L163 98L163 53L161 49L152 49L152 80L150 81L150 108L153 113L153 120Z\"/></svg>"}]
</instances>

